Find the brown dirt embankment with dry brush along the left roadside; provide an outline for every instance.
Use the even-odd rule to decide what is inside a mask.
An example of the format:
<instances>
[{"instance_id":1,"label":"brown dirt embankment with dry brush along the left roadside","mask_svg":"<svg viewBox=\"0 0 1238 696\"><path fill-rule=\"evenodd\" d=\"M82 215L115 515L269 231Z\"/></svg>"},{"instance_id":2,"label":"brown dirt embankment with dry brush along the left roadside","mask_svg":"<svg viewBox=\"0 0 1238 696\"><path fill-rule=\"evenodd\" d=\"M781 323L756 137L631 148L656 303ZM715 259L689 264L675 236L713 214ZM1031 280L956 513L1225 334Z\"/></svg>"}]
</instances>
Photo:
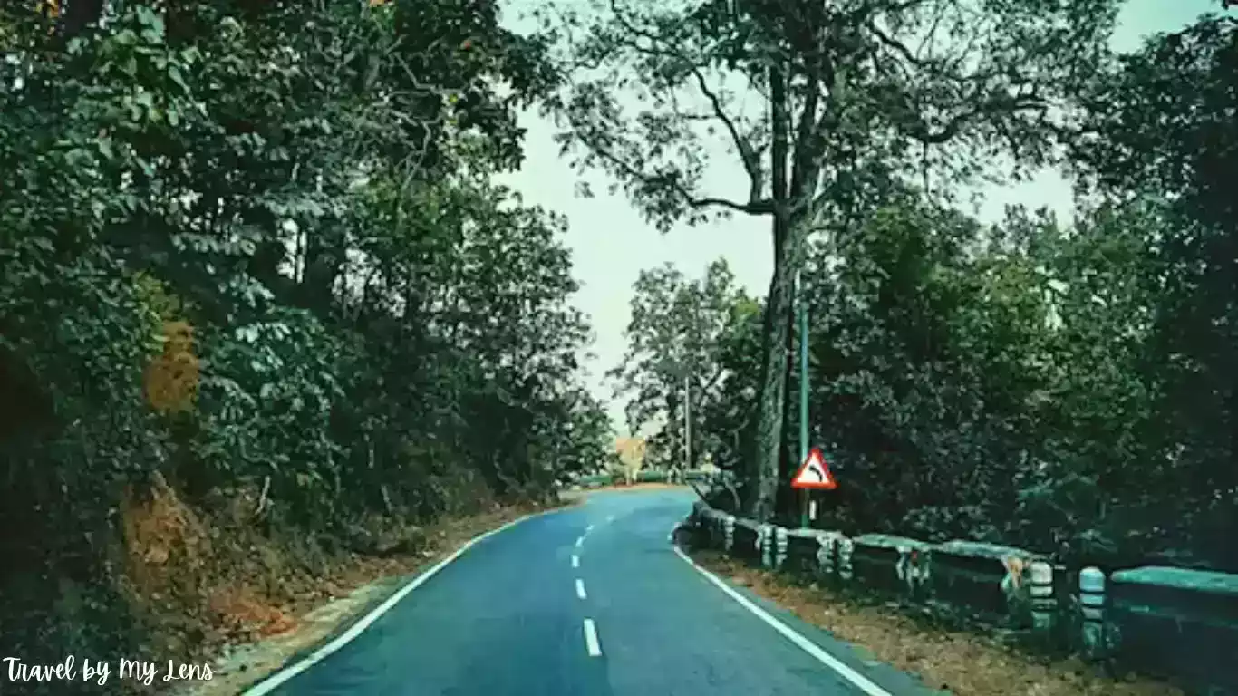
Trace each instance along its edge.
<instances>
[{"instance_id":1,"label":"brown dirt embankment with dry brush along the left roadside","mask_svg":"<svg viewBox=\"0 0 1238 696\"><path fill-rule=\"evenodd\" d=\"M470 490L464 490L470 488ZM186 505L163 479L126 497L123 596L149 637L145 658L210 664L209 681L123 682L129 694L232 695L321 643L467 540L552 504L500 505L475 485L457 507L416 526L371 515L348 539L275 528L258 490L219 492Z\"/></svg>"}]
</instances>

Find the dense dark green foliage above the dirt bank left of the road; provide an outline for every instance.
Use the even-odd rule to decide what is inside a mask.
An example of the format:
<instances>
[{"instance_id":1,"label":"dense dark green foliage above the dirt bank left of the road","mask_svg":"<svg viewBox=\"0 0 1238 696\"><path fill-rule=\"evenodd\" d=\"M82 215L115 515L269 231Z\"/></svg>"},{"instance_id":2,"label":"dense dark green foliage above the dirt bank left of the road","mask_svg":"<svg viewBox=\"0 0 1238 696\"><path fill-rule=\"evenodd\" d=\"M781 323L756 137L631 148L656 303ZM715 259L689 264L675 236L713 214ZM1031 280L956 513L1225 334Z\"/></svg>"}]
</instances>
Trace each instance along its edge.
<instances>
[{"instance_id":1,"label":"dense dark green foliage above the dirt bank left of the road","mask_svg":"<svg viewBox=\"0 0 1238 696\"><path fill-rule=\"evenodd\" d=\"M125 650L118 507L152 482L313 537L602 456L563 222L490 183L541 45L368 5L4 5L4 654Z\"/></svg>"}]
</instances>

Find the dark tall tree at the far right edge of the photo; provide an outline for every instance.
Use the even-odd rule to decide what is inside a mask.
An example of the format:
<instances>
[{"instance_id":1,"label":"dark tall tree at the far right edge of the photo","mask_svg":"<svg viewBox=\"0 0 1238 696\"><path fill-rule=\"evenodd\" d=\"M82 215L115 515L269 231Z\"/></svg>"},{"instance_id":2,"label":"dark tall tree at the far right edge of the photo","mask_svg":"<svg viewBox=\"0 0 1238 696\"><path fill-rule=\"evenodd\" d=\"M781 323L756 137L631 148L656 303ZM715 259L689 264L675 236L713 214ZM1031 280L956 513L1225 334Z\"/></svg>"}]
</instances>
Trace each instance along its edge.
<instances>
[{"instance_id":1,"label":"dark tall tree at the far right edge of the photo","mask_svg":"<svg viewBox=\"0 0 1238 696\"><path fill-rule=\"evenodd\" d=\"M1149 38L1086 104L1082 173L1160 212L1144 228L1159 285L1145 370L1164 385L1175 485L1223 549L1238 520L1238 19L1206 15Z\"/></svg>"}]
</instances>

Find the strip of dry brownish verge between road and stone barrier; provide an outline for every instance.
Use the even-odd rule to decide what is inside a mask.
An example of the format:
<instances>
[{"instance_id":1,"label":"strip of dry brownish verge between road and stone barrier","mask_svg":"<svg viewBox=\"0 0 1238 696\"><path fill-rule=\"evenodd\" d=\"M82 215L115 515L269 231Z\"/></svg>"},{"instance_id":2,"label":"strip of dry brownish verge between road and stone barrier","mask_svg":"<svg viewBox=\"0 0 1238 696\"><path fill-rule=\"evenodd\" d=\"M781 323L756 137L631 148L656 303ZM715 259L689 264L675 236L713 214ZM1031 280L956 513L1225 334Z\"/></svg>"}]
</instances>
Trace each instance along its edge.
<instances>
[{"instance_id":1,"label":"strip of dry brownish verge between road and stone barrier","mask_svg":"<svg viewBox=\"0 0 1238 696\"><path fill-rule=\"evenodd\" d=\"M873 659L954 696L1182 696L1181 690L1164 682L1134 676L1115 680L1080 660L1044 659L994 637L930 628L894 609L800 586L713 551L692 551L691 556L719 577L864 649Z\"/></svg>"}]
</instances>

